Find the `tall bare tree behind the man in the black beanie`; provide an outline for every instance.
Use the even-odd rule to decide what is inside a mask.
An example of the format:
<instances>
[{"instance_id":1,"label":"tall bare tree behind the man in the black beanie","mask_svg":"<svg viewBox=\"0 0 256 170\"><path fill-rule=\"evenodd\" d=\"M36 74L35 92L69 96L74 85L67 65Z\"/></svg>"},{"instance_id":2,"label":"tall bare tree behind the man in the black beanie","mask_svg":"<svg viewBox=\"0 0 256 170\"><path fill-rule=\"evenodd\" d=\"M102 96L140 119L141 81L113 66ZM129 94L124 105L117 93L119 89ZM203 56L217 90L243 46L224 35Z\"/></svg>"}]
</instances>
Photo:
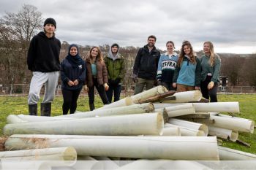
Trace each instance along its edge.
<instances>
[{"instance_id":1,"label":"tall bare tree behind the man in the black beanie","mask_svg":"<svg viewBox=\"0 0 256 170\"><path fill-rule=\"evenodd\" d=\"M24 4L18 13L6 12L0 19L1 66L5 67L5 83L24 82L29 42L42 28L42 14L37 7Z\"/></svg>"}]
</instances>

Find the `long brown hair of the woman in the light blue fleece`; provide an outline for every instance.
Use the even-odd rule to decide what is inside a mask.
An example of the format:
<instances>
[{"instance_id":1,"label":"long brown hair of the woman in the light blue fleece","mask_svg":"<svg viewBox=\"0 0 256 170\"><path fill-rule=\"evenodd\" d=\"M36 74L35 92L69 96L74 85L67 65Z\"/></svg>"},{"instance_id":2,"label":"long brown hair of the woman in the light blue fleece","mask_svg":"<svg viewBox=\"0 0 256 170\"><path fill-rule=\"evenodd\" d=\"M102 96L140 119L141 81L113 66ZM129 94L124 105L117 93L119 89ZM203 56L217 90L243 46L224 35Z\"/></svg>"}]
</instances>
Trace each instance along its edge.
<instances>
[{"instance_id":1,"label":"long brown hair of the woman in the light blue fleece","mask_svg":"<svg viewBox=\"0 0 256 170\"><path fill-rule=\"evenodd\" d=\"M188 46L188 47L190 48L189 62L192 63L192 64L197 63L197 62L196 62L196 56L195 56L195 54L194 54L192 45L190 44L189 41L184 41L184 42L182 43L182 46L181 46L181 53L180 53L179 56L178 56L178 67L181 67L181 63L182 63L182 61L184 60L184 56L185 56L184 47L185 47L185 46Z\"/></svg>"}]
</instances>

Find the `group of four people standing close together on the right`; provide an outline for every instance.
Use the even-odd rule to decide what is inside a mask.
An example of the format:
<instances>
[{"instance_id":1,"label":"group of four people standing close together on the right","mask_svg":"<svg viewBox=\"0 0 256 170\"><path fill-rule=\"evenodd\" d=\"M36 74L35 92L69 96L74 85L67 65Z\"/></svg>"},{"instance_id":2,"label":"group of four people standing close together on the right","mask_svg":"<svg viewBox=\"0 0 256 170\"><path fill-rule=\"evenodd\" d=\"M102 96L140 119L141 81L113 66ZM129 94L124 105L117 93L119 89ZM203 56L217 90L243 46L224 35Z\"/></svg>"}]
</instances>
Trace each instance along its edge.
<instances>
[{"instance_id":1,"label":"group of four people standing close together on the right","mask_svg":"<svg viewBox=\"0 0 256 170\"><path fill-rule=\"evenodd\" d=\"M217 90L221 61L214 53L212 42L203 43L204 55L197 58L189 41L181 45L177 54L174 43L166 43L167 52L160 55L154 46L156 36L148 36L148 44L140 48L135 58L132 80L135 94L154 85L163 85L167 90L177 92L201 90L203 97L217 102Z\"/></svg>"}]
</instances>

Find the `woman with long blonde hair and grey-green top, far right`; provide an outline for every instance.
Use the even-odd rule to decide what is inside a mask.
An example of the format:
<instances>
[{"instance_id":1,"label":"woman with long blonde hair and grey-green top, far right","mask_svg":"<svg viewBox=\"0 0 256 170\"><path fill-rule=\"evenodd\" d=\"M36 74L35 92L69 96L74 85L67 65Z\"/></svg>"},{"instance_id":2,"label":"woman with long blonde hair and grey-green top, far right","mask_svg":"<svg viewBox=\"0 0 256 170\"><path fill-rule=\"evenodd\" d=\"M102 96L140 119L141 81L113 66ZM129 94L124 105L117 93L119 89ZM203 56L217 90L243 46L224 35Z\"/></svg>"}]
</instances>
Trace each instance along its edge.
<instances>
[{"instance_id":1,"label":"woman with long blonde hair and grey-green top, far right","mask_svg":"<svg viewBox=\"0 0 256 170\"><path fill-rule=\"evenodd\" d=\"M211 102L217 102L221 61L219 55L214 53L214 45L212 42L204 42L203 51L205 54L200 58L202 66L201 92L204 98L211 98Z\"/></svg>"}]
</instances>

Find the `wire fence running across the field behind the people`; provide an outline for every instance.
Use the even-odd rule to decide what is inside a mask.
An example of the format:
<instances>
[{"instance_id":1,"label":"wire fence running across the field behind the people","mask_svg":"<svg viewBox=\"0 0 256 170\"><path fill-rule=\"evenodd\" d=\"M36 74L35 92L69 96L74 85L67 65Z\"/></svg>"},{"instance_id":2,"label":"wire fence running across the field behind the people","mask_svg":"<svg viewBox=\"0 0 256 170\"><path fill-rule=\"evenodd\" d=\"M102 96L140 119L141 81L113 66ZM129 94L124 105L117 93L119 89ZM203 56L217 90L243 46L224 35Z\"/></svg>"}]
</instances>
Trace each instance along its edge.
<instances>
[{"instance_id":1,"label":"wire fence running across the field behind the people","mask_svg":"<svg viewBox=\"0 0 256 170\"><path fill-rule=\"evenodd\" d=\"M42 86L40 94L44 93L44 86ZM130 85L129 88L126 86L122 87L121 94L124 96L132 96L134 85ZM1 96L27 96L29 93L29 84L13 84L13 85L0 85ZM255 86L225 86L219 87L218 93L256 93ZM96 92L97 94L97 92ZM84 90L81 91L81 95L86 95ZM56 88L56 96L62 96L61 85Z\"/></svg>"}]
</instances>

